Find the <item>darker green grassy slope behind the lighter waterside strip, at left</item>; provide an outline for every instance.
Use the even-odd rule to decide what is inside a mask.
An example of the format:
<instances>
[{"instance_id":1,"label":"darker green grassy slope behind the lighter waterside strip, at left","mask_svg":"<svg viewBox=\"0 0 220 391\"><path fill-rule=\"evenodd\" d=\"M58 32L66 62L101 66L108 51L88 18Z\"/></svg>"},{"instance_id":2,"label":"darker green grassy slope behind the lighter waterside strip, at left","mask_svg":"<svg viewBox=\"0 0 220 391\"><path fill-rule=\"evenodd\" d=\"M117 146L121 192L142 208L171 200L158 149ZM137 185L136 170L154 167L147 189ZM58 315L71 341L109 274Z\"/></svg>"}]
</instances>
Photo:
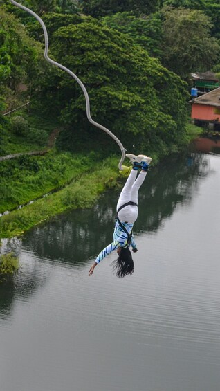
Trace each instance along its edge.
<instances>
[{"instance_id":1,"label":"darker green grassy slope behind the lighter waterside strip, at left","mask_svg":"<svg viewBox=\"0 0 220 391\"><path fill-rule=\"evenodd\" d=\"M95 154L84 156L52 150L44 156L19 156L0 164L0 212L64 186L95 165Z\"/></svg>"}]
</instances>

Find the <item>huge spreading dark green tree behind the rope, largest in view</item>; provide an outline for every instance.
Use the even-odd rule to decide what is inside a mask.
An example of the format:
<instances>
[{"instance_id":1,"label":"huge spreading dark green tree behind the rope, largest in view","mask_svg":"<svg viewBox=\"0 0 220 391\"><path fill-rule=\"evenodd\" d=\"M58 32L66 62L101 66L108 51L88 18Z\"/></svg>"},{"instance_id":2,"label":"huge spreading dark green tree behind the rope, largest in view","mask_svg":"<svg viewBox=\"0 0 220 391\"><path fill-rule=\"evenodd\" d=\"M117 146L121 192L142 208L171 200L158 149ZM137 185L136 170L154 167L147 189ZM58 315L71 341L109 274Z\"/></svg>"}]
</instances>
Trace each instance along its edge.
<instances>
[{"instance_id":1,"label":"huge spreading dark green tree behind the rope, largest in view","mask_svg":"<svg viewBox=\"0 0 220 391\"><path fill-rule=\"evenodd\" d=\"M59 15L56 18L59 26ZM51 53L86 85L93 118L127 147L145 145L151 152L167 153L181 143L185 84L131 39L91 17L82 17L81 23L53 33ZM62 110L62 120L71 125L63 134L66 147L73 147L75 139L85 135L90 146L94 134L100 137L102 131L95 133L86 119L80 87L68 74L51 67L35 82L37 104L50 111Z\"/></svg>"}]
</instances>

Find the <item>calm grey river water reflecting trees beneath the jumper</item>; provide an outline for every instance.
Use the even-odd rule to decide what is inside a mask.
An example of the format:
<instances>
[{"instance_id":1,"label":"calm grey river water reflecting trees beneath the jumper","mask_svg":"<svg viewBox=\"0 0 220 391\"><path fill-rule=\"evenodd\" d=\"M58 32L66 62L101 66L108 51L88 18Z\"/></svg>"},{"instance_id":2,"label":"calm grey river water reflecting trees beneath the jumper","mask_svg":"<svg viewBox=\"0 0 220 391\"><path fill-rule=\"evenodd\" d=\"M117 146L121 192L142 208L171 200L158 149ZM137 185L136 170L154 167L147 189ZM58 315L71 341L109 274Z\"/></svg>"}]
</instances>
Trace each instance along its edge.
<instances>
[{"instance_id":1,"label":"calm grey river water reflecting trees beneath the jumper","mask_svg":"<svg viewBox=\"0 0 220 391\"><path fill-rule=\"evenodd\" d=\"M118 191L3 242L1 391L220 390L220 156L152 169L140 189L134 275L110 255Z\"/></svg>"}]
</instances>

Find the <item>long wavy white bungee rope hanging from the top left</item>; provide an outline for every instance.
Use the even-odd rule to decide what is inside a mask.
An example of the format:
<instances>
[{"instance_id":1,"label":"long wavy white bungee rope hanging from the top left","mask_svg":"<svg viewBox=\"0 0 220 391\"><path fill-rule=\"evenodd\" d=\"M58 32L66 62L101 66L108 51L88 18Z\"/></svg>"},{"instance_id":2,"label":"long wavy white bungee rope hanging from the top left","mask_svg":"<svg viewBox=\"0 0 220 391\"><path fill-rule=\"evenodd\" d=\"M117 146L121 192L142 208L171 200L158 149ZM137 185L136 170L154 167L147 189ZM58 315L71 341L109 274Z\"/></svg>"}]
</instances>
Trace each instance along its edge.
<instances>
[{"instance_id":1,"label":"long wavy white bungee rope hanging from the top left","mask_svg":"<svg viewBox=\"0 0 220 391\"><path fill-rule=\"evenodd\" d=\"M89 122L91 122L92 125L96 126L96 127L99 127L100 129L102 129L103 131L105 131L107 134L109 134L109 136L111 136L113 138L113 140L116 141L116 143L119 145L120 147L120 150L122 152L122 157L120 158L120 162L118 163L118 168L119 170L122 170L122 163L123 161L125 160L125 148L123 147L122 143L120 142L120 140L118 140L118 138L109 130L107 129L107 127L104 127L102 125L100 125L98 122L95 122L92 118L91 118L91 113L90 113L90 102L89 102L89 94L88 92L86 91L86 87L84 86L84 84L81 82L81 80L77 77L77 75L75 75L75 73L73 73L72 71L70 71L68 68L66 68L66 66L62 65L62 64L59 64L59 62L55 62L53 60L51 60L50 57L48 57L48 47L49 47L49 41L48 41L48 33L47 33L47 30L46 30L46 26L44 24L44 22L42 21L42 19L35 13L33 12L32 10L30 10L29 8L25 7L25 6L22 6L21 4L17 3L17 1L14 1L14 0L10 0L10 2L12 4L14 4L14 6L17 6L19 8L21 8L22 10L25 10L26 12L29 12L30 15L33 15L33 17L35 17L37 19L37 21L39 21L39 24L41 24L43 30L44 30L44 41L45 41L45 49L44 49L44 57L46 58L46 60L48 62L50 62L51 64L55 65L55 66L58 66L60 69L63 69L63 71L66 71L67 73L69 73L69 75L72 76L72 78L74 78L78 84L80 84L80 87L84 93L84 96L86 98L86 116L89 120Z\"/></svg>"}]
</instances>

